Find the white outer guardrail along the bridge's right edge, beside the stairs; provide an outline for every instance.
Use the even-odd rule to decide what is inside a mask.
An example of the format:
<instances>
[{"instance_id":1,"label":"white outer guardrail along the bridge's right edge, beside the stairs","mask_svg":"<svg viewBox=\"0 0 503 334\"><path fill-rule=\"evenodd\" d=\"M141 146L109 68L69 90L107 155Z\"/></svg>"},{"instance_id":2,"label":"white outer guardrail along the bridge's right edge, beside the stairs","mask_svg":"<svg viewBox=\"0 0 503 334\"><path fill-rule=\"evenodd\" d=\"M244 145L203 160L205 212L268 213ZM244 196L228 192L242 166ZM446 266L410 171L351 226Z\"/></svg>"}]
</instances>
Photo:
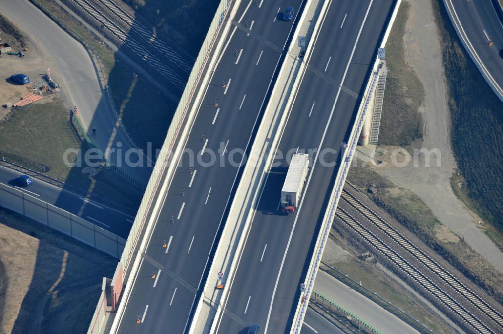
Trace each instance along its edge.
<instances>
[{"instance_id":1,"label":"white outer guardrail along the bridge's right edge, beside the stairs","mask_svg":"<svg viewBox=\"0 0 503 334\"><path fill-rule=\"evenodd\" d=\"M396 0L393 14L392 14L390 21L388 23L388 27L386 29L384 36L383 36L383 40L381 42L380 47L384 47L384 45L386 44L389 33L391 31L391 27L392 27L393 22L396 18L396 14L398 13L398 8L400 6L400 3L401 3L401 0ZM365 89L365 92L363 95L364 98L362 99L362 104L360 105L360 108L358 110L358 114L356 117L357 121L355 122L355 125L353 126L353 130L351 132L350 139L348 141L348 147L345 150L345 152L341 155L341 162L342 162L341 167L343 167L343 168L339 168L339 171L338 171L338 174L336 177L336 181L334 183L335 185L334 185L333 191L330 195L330 198L331 198L330 202L332 204L329 205L329 209L327 209L327 212L329 212L328 218L325 219L325 222L322 225L322 228L320 229L320 233L318 234L318 239L316 241L316 247L315 247L315 254L316 254L315 261L314 262L311 261L311 264L310 264L309 270L308 270L308 275L306 277L307 282L305 282L307 284L304 283L307 286L306 291L305 291L305 298L302 298L300 303L297 306L297 310L295 312L295 316L294 316L294 320L293 320L292 329L290 331L291 333L295 333L295 334L299 333L300 328L302 327L302 321L304 319L305 311L306 311L308 303L309 303L309 296L313 290L314 280L315 280L318 266L319 266L319 263L321 260L321 255L323 254L325 242L326 242L326 239L328 237L328 233L330 231L330 228L331 228L331 225L333 222L333 218L335 215L335 211L337 208L339 197L341 196L341 192L344 187L344 182L346 180L346 176L347 176L349 167L351 166L351 161L352 161L356 146L358 144L358 138L359 138L360 132L362 130L363 120L364 120L364 117L366 116L367 108L369 106L369 102L372 97L372 93L374 91L374 87L377 82L378 76L379 76L379 58L376 56L376 59L374 61L374 65L372 66L372 75L371 75L371 77L368 81L367 87ZM326 216L326 214L325 214L325 216ZM299 309L299 306L300 306L300 309Z\"/></svg>"}]
</instances>

